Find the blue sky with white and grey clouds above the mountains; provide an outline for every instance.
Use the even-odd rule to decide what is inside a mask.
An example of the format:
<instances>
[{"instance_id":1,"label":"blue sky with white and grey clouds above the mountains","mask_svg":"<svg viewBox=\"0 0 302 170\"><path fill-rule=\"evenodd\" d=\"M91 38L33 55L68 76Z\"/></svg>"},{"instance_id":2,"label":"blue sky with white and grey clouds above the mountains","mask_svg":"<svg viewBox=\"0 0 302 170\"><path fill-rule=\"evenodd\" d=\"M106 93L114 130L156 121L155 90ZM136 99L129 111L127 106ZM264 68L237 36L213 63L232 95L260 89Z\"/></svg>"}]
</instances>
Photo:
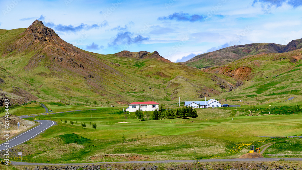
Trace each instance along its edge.
<instances>
[{"instance_id":1,"label":"blue sky with white and grey clouds above the mountains","mask_svg":"<svg viewBox=\"0 0 302 170\"><path fill-rule=\"evenodd\" d=\"M36 19L86 51L157 51L172 62L233 45L302 38L302 0L1 0L0 28Z\"/></svg>"}]
</instances>

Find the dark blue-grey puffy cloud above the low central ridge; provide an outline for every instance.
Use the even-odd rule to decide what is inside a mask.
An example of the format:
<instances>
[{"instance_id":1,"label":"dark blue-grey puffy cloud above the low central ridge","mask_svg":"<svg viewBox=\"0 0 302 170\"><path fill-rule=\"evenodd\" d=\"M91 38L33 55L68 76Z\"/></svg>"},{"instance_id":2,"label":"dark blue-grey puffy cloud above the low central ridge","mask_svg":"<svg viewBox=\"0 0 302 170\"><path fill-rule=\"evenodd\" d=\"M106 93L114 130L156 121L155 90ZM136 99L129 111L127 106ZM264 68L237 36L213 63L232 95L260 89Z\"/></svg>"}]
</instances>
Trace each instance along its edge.
<instances>
[{"instance_id":1,"label":"dark blue-grey puffy cloud above the low central ridge","mask_svg":"<svg viewBox=\"0 0 302 170\"><path fill-rule=\"evenodd\" d=\"M133 35L133 33L126 31L126 32L119 32L117 33L116 37L108 43L108 46L118 46L118 45L130 45L133 43L142 43L143 41L149 40L149 37L143 37L141 35Z\"/></svg>"}]
</instances>

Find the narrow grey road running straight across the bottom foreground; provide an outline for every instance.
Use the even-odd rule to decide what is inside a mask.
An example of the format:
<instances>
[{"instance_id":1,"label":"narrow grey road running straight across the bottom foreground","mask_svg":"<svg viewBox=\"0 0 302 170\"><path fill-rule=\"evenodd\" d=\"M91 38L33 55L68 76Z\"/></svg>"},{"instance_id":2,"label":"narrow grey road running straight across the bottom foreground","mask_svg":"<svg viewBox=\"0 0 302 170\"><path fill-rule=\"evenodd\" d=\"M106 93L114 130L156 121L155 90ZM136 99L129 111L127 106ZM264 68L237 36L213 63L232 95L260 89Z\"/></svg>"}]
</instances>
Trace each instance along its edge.
<instances>
[{"instance_id":1,"label":"narrow grey road running straight across the bottom foreground","mask_svg":"<svg viewBox=\"0 0 302 170\"><path fill-rule=\"evenodd\" d=\"M302 161L302 158L251 158L251 159L201 159L198 162L248 162L248 161ZM11 162L12 165L89 165L106 163L169 163L169 162L194 162L196 160L168 160L168 161L128 161L128 162L94 162L94 163L70 163L70 164L51 164L51 163L29 163L29 162Z\"/></svg>"}]
</instances>

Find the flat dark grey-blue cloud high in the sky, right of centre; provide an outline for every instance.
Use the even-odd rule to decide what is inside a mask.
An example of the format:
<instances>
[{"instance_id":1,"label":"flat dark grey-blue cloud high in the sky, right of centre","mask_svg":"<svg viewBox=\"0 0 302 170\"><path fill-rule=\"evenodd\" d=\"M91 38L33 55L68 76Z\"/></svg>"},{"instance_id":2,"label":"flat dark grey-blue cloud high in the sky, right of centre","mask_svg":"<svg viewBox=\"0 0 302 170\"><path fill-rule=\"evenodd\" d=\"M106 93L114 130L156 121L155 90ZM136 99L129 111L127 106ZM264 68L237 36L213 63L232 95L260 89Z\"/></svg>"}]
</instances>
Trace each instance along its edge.
<instances>
[{"instance_id":1,"label":"flat dark grey-blue cloud high in the sky, right of centre","mask_svg":"<svg viewBox=\"0 0 302 170\"><path fill-rule=\"evenodd\" d=\"M176 21L190 21L190 22L196 22L196 21L204 21L204 19L207 18L204 15L198 15L198 14L193 14L190 15L188 13L183 13L183 12L175 12L168 17L159 17L157 18L158 20L176 20Z\"/></svg>"}]
</instances>

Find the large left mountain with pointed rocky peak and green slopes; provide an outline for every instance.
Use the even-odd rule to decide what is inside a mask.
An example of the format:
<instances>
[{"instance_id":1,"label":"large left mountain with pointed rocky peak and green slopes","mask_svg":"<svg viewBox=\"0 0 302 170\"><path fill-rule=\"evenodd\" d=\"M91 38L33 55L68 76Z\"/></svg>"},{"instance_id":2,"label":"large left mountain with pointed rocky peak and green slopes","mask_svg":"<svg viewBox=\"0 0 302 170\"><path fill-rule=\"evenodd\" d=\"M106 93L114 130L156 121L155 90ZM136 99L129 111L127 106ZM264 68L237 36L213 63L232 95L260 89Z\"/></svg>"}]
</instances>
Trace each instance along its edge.
<instances>
[{"instance_id":1,"label":"large left mountain with pointed rocky peak and green slopes","mask_svg":"<svg viewBox=\"0 0 302 170\"><path fill-rule=\"evenodd\" d=\"M81 50L34 21L0 30L0 98L83 104L169 101L218 95L213 74L171 63L154 51L102 55ZM233 80L230 80L233 82ZM1 102L1 100L0 100Z\"/></svg>"}]
</instances>

